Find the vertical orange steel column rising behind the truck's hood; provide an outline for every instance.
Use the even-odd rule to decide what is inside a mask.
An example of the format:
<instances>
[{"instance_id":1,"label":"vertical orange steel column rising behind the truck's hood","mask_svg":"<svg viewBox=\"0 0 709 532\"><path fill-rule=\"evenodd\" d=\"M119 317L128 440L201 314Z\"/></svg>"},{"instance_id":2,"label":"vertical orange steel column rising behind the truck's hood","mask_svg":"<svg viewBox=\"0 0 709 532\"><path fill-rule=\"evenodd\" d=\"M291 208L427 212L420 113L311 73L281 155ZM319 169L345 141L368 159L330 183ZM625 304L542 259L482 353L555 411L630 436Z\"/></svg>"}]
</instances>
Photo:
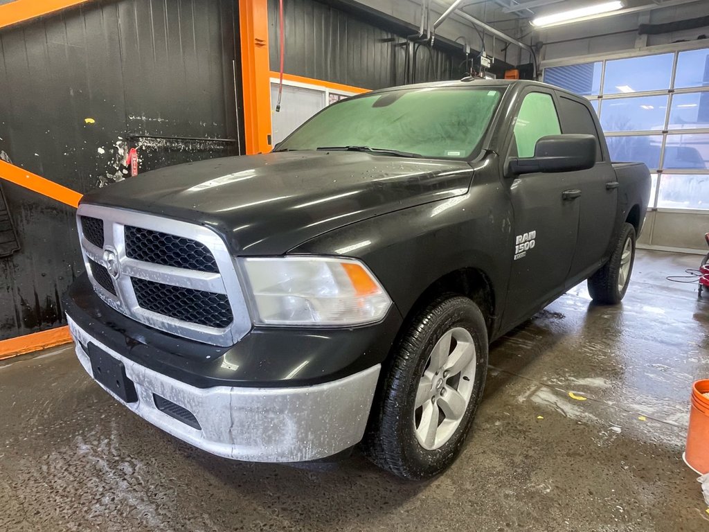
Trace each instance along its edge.
<instances>
[{"instance_id":1,"label":"vertical orange steel column rising behind the truck's hood","mask_svg":"<svg viewBox=\"0 0 709 532\"><path fill-rule=\"evenodd\" d=\"M246 153L271 150L268 1L239 0Z\"/></svg>"}]
</instances>

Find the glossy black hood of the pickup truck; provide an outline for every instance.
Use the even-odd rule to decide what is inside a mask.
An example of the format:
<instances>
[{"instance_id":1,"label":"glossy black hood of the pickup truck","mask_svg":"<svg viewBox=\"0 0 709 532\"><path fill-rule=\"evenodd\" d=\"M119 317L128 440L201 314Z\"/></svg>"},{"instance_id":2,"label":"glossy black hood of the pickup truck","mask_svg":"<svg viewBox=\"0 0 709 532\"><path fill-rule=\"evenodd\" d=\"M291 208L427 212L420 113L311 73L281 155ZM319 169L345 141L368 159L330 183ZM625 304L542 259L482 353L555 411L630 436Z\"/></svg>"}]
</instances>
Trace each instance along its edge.
<instances>
[{"instance_id":1,"label":"glossy black hood of the pickup truck","mask_svg":"<svg viewBox=\"0 0 709 532\"><path fill-rule=\"evenodd\" d=\"M462 161L278 152L145 172L90 192L82 203L200 223L233 253L279 255L350 223L465 194L472 172Z\"/></svg>"}]
</instances>

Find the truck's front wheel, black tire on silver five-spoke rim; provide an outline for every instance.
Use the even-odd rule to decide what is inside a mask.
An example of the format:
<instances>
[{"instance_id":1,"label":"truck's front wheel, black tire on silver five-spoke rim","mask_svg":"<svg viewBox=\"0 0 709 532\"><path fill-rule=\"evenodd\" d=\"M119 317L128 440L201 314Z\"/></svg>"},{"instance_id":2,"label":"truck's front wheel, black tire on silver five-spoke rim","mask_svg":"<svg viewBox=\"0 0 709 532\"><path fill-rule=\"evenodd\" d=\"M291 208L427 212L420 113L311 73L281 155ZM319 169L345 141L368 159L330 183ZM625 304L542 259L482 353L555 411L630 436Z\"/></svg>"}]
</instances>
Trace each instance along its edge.
<instances>
[{"instance_id":1,"label":"truck's front wheel, black tire on silver five-spoke rim","mask_svg":"<svg viewBox=\"0 0 709 532\"><path fill-rule=\"evenodd\" d=\"M367 454L422 480L457 458L481 400L488 336L478 306L448 294L425 307L395 346L373 406Z\"/></svg>"}]
</instances>

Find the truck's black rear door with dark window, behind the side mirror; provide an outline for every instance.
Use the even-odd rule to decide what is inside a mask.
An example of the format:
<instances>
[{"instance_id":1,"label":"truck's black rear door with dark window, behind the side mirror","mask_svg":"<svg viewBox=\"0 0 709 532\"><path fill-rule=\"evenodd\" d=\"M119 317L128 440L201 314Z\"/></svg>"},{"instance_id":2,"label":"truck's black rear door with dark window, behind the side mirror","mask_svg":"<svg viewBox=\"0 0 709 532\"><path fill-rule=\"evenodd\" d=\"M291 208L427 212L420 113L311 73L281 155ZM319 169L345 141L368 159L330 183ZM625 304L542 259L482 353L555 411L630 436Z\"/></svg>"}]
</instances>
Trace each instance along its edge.
<instances>
[{"instance_id":1,"label":"truck's black rear door with dark window, behind the side mirror","mask_svg":"<svg viewBox=\"0 0 709 532\"><path fill-rule=\"evenodd\" d=\"M588 102L559 94L562 133L585 133L596 137L596 165L574 172L579 203L579 236L571 263L567 287L591 275L608 258L609 243L615 228L618 209L618 181L598 140L598 126Z\"/></svg>"}]
</instances>

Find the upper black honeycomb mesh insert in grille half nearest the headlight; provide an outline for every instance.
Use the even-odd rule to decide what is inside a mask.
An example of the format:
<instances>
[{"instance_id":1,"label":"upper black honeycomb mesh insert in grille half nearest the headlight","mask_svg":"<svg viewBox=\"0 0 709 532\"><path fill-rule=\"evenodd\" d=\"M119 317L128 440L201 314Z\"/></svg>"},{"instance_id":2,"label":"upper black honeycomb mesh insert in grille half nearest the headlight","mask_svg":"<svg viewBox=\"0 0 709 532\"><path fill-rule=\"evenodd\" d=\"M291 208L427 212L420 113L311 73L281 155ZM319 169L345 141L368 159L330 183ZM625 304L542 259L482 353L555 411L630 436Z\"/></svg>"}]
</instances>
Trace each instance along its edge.
<instances>
[{"instance_id":1,"label":"upper black honeycomb mesh insert in grille half nearest the headlight","mask_svg":"<svg viewBox=\"0 0 709 532\"><path fill-rule=\"evenodd\" d=\"M216 260L206 245L189 238L140 227L125 226L125 255L153 264L199 272L219 272Z\"/></svg>"}]
</instances>

